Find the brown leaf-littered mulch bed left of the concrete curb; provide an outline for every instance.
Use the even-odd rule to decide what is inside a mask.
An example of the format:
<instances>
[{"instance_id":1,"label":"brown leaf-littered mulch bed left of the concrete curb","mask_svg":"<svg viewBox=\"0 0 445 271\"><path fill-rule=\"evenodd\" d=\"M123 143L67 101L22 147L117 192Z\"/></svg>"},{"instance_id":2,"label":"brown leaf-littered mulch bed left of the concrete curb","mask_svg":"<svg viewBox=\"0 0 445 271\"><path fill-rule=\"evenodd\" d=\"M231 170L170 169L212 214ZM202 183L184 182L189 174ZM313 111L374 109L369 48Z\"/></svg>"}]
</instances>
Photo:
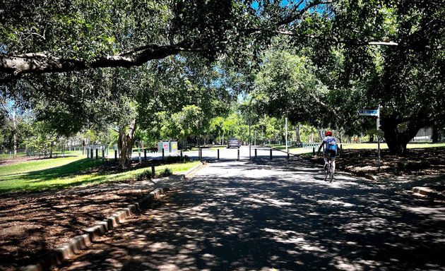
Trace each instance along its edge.
<instances>
[{"instance_id":1,"label":"brown leaf-littered mulch bed left of the concrete curb","mask_svg":"<svg viewBox=\"0 0 445 271\"><path fill-rule=\"evenodd\" d=\"M4 164L13 163L16 162ZM114 163L92 171L97 170L121 171ZM19 270L37 263L42 255L64 246L74 236L153 191L153 186L139 183L132 179L57 192L0 195L0 270Z\"/></svg>"}]
</instances>

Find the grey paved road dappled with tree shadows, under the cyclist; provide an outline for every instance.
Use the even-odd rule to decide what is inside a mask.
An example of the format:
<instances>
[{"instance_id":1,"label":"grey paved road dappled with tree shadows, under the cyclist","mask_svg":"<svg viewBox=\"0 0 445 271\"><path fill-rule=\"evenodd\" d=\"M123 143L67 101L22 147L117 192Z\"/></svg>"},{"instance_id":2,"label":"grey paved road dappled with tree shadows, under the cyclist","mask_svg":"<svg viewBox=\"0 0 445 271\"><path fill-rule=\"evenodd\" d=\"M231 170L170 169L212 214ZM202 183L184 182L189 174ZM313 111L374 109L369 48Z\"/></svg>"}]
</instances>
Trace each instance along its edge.
<instances>
[{"instance_id":1,"label":"grey paved road dappled with tree shadows, under the cyclist","mask_svg":"<svg viewBox=\"0 0 445 271\"><path fill-rule=\"evenodd\" d=\"M258 163L210 164L61 270L445 270L445 205Z\"/></svg>"}]
</instances>

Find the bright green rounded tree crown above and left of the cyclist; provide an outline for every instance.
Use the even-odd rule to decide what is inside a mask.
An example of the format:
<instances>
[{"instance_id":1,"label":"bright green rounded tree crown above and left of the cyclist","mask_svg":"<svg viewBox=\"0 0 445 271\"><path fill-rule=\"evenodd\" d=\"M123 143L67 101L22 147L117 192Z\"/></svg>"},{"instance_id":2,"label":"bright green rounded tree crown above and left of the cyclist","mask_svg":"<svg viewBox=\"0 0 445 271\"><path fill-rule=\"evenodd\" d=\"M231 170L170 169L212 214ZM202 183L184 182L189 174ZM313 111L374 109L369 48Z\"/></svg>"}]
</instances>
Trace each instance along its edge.
<instances>
[{"instance_id":1,"label":"bright green rounded tree crown above and left of the cyclist","mask_svg":"<svg viewBox=\"0 0 445 271\"><path fill-rule=\"evenodd\" d=\"M319 100L326 86L314 75L314 66L304 56L271 51L256 76L254 103L270 116L287 116L292 122L319 124Z\"/></svg>"}]
</instances>

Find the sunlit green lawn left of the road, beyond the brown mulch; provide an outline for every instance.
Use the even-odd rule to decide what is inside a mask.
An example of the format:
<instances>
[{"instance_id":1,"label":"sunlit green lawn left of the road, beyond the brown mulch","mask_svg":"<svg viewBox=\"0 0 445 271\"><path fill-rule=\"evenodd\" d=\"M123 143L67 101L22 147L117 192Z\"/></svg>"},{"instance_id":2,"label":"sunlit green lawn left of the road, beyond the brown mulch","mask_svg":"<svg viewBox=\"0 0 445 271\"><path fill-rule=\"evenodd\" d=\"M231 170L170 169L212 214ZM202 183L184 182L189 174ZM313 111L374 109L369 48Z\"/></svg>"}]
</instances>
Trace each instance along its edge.
<instances>
[{"instance_id":1,"label":"sunlit green lawn left of the road, beyond the brown mulch","mask_svg":"<svg viewBox=\"0 0 445 271\"><path fill-rule=\"evenodd\" d=\"M85 157L61 157L2 166L0 167L0 194L56 190L71 186L124 181L136 179L144 171L151 171L151 168L143 168L114 174L106 171L85 173L86 170L103 163L102 160ZM197 164L200 162L166 164L155 167L155 174L160 174L166 168L173 174L181 174Z\"/></svg>"}]
</instances>

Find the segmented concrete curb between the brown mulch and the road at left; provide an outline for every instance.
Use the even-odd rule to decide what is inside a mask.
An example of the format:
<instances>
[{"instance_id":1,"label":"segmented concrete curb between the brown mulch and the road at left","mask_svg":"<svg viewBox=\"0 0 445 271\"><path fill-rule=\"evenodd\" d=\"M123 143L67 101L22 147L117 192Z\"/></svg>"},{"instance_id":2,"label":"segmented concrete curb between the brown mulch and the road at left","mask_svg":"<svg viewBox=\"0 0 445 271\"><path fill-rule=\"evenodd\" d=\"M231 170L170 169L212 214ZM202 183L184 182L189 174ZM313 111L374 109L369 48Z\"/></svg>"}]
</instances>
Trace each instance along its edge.
<instances>
[{"instance_id":1,"label":"segmented concrete curb between the brown mulch and the road at left","mask_svg":"<svg viewBox=\"0 0 445 271\"><path fill-rule=\"evenodd\" d=\"M65 246L56 248L52 253L49 253L49 255L41 260L40 263L21 267L20 270L49 270L51 267L63 263L66 259L80 253L82 250L85 250L85 248L88 248L88 246L90 246L95 239L105 234L105 232L117 227L119 224L124 222L125 219L131 215L134 215L136 212L138 212L138 210L141 210L142 207L146 207L149 203L152 203L153 200L159 198L160 195L167 190L168 188L158 188L151 191L146 197L139 200L138 203L128 205L126 208L115 212L111 217L107 217L99 224L87 229L85 234L73 237L73 239L71 239Z\"/></svg>"}]
</instances>

